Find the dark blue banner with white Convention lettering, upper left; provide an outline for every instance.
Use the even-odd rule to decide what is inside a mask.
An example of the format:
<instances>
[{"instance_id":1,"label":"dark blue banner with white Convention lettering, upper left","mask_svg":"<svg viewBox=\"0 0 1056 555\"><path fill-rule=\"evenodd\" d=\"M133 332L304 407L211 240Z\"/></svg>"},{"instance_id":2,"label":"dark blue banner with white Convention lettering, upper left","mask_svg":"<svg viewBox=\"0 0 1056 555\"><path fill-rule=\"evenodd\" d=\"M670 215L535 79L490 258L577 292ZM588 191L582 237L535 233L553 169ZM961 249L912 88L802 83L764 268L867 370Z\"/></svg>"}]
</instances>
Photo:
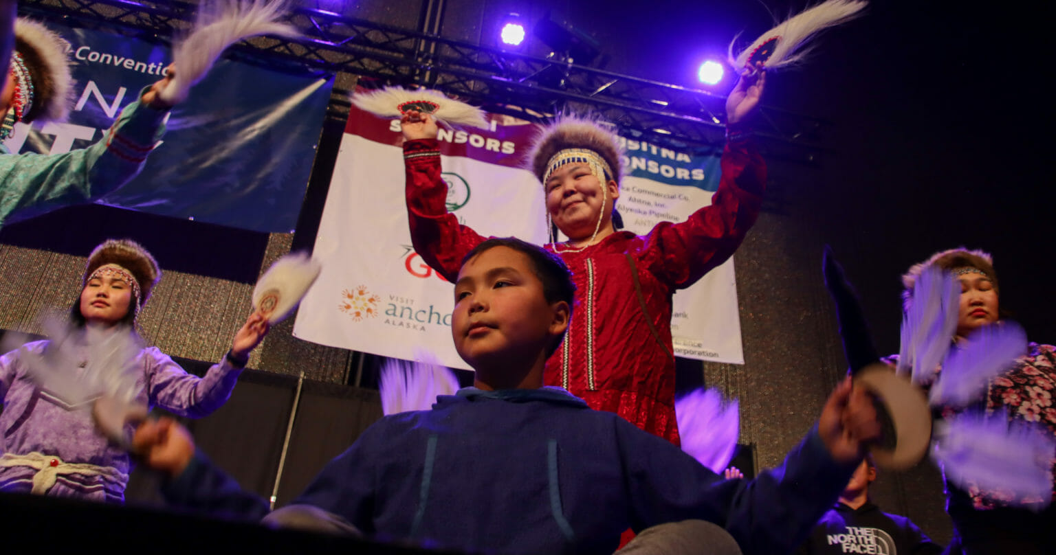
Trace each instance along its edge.
<instances>
[{"instance_id":1,"label":"dark blue banner with white Convention lettering, upper left","mask_svg":"<svg viewBox=\"0 0 1056 555\"><path fill-rule=\"evenodd\" d=\"M162 78L168 46L50 24L71 43L70 122L38 129L21 151L99 140L120 109ZM221 59L177 106L143 173L101 204L263 232L297 224L333 79Z\"/></svg>"}]
</instances>

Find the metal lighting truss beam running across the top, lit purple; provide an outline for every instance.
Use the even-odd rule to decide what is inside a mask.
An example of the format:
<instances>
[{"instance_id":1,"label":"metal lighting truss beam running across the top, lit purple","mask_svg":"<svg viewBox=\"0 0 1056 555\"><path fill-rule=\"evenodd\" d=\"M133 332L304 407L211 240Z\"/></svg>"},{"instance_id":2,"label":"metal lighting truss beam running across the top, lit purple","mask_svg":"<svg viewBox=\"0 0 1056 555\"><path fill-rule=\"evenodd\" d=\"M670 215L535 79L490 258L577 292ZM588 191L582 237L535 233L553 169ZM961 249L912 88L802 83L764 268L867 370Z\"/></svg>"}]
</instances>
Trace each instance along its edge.
<instances>
[{"instance_id":1,"label":"metal lighting truss beam running across the top, lit purple","mask_svg":"<svg viewBox=\"0 0 1056 555\"><path fill-rule=\"evenodd\" d=\"M195 4L181 0L21 0L20 9L50 19L168 40L186 30ZM298 8L296 39L261 37L237 49L345 72L377 84L420 84L486 110L529 120L562 111L592 111L652 141L722 141L725 98L703 91L396 28L320 9ZM827 123L772 107L760 109L758 135L769 154L812 161Z\"/></svg>"}]
</instances>

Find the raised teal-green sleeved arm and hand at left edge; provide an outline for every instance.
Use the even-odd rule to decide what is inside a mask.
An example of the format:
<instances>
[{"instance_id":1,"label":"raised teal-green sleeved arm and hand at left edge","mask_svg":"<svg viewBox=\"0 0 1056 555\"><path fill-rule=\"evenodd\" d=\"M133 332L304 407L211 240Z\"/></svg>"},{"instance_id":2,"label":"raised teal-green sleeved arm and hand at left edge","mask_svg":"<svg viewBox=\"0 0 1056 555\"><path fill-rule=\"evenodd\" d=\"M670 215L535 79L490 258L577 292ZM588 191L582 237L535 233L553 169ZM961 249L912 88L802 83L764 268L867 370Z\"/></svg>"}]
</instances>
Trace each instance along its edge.
<instances>
[{"instance_id":1,"label":"raised teal-green sleeved arm and hand at left edge","mask_svg":"<svg viewBox=\"0 0 1056 555\"><path fill-rule=\"evenodd\" d=\"M3 1L3 0L0 0ZM0 155L0 227L57 208L97 200L139 173L165 132L169 107L144 89L101 139L61 154Z\"/></svg>"}]
</instances>

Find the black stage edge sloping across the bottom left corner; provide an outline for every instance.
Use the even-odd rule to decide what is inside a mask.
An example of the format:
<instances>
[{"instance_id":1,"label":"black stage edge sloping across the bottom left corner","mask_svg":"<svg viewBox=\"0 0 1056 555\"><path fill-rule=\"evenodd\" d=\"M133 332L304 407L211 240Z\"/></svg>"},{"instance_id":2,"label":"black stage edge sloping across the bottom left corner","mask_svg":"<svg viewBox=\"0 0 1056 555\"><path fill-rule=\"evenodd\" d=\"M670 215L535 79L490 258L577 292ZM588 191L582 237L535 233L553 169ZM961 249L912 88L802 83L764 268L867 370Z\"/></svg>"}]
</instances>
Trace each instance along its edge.
<instances>
[{"instance_id":1,"label":"black stage edge sloping across the bottom left corner","mask_svg":"<svg viewBox=\"0 0 1056 555\"><path fill-rule=\"evenodd\" d=\"M260 524L215 520L154 509L0 493L0 515L12 546L67 553L356 553L437 552Z\"/></svg>"}]
</instances>

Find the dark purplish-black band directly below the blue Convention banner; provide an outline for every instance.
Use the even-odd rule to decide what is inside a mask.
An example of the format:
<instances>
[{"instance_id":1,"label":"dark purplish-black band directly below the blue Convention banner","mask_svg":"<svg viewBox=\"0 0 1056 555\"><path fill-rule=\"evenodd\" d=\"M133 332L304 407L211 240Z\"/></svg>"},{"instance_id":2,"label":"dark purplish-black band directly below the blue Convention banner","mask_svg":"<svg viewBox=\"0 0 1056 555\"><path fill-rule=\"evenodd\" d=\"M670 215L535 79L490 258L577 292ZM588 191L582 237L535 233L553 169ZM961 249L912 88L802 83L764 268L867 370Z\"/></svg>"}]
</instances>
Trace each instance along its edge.
<instances>
[{"instance_id":1,"label":"dark purplish-black band directly below the blue Convention banner","mask_svg":"<svg viewBox=\"0 0 1056 555\"><path fill-rule=\"evenodd\" d=\"M103 205L61 208L5 226L0 243L88 256L107 238L131 238L163 270L257 283L268 234Z\"/></svg>"}]
</instances>

